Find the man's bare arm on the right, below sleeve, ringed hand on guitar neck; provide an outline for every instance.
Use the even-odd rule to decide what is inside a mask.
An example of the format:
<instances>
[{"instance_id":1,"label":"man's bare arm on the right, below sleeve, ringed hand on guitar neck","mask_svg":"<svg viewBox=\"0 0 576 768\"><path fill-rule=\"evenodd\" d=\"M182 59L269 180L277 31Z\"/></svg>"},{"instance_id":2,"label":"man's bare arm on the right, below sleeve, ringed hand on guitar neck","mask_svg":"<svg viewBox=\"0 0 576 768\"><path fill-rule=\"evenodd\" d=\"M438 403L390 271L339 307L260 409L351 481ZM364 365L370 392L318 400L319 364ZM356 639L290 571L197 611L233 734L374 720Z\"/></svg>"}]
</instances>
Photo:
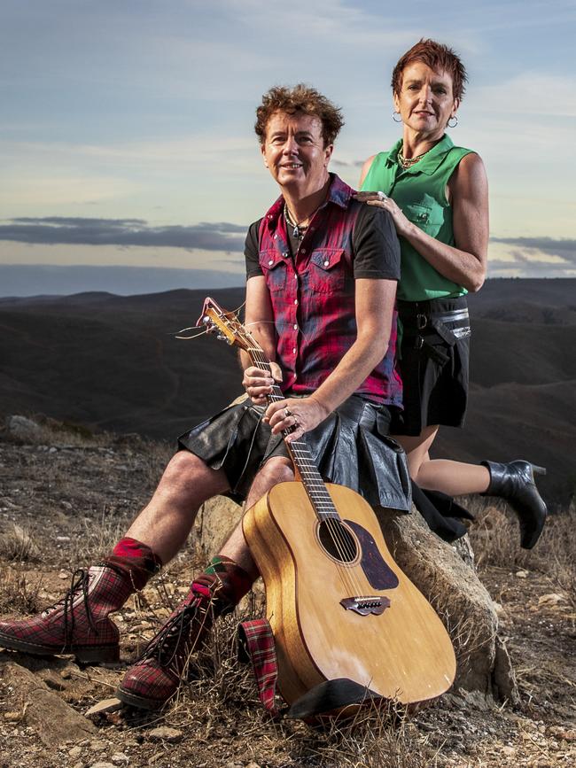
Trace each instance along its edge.
<instances>
[{"instance_id":1,"label":"man's bare arm on the right, below sleeve, ringed hand on guitar neck","mask_svg":"<svg viewBox=\"0 0 576 768\"><path fill-rule=\"evenodd\" d=\"M298 439L323 422L356 391L388 349L395 295L395 280L361 278L355 281L357 335L354 344L314 394L306 398L280 400L269 406L266 415L273 432L293 426L292 416L286 418L284 414L284 409L288 407L297 415L296 422L299 424L288 439Z\"/></svg>"}]
</instances>

